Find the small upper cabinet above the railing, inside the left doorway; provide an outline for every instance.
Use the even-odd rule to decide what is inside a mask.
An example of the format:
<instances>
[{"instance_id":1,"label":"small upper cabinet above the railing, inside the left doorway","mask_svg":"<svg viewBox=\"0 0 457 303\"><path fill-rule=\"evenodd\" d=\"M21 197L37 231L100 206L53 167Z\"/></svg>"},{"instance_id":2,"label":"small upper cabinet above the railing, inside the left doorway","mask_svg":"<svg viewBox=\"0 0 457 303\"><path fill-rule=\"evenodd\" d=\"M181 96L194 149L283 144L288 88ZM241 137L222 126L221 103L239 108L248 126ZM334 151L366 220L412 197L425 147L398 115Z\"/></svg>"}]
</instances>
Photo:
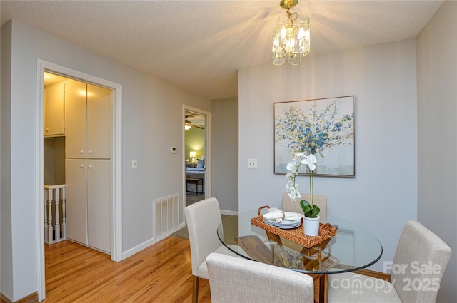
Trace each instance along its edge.
<instances>
[{"instance_id":1,"label":"small upper cabinet above the railing, inside the left doorway","mask_svg":"<svg viewBox=\"0 0 457 303\"><path fill-rule=\"evenodd\" d=\"M44 88L44 136L65 134L65 84Z\"/></svg>"}]
</instances>

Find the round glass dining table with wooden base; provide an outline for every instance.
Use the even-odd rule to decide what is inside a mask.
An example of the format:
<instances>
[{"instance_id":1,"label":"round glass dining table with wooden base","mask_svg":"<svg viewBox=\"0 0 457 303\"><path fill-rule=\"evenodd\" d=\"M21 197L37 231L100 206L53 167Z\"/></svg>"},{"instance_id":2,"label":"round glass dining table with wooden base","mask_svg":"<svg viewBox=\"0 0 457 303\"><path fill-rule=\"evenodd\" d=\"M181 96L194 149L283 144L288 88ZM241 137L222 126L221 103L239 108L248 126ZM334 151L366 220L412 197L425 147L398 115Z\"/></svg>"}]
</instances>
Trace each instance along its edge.
<instances>
[{"instance_id":1,"label":"round glass dining table with wooden base","mask_svg":"<svg viewBox=\"0 0 457 303\"><path fill-rule=\"evenodd\" d=\"M273 234L252 225L254 217L259 217L257 210L227 217L217 229L219 240L248 260L310 274L318 289L318 302L327 301L328 274L364 269L376 263L383 253L381 242L371 232L338 217L321 218L322 224L336 227L336 235L313 247L289 240L281 232Z\"/></svg>"}]
</instances>

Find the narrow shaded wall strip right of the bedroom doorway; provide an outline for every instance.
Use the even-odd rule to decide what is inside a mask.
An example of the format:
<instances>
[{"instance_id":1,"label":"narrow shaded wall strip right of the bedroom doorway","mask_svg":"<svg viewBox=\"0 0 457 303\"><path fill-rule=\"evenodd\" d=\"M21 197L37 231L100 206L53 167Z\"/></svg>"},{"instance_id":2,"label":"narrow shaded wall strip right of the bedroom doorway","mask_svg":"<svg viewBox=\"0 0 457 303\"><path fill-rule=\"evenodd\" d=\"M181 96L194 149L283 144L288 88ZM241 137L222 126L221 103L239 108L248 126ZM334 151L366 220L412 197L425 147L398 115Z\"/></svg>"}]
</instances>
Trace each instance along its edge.
<instances>
[{"instance_id":1,"label":"narrow shaded wall strip right of the bedroom doorway","mask_svg":"<svg viewBox=\"0 0 457 303\"><path fill-rule=\"evenodd\" d=\"M221 212L238 212L238 98L212 102L213 197Z\"/></svg>"}]
</instances>

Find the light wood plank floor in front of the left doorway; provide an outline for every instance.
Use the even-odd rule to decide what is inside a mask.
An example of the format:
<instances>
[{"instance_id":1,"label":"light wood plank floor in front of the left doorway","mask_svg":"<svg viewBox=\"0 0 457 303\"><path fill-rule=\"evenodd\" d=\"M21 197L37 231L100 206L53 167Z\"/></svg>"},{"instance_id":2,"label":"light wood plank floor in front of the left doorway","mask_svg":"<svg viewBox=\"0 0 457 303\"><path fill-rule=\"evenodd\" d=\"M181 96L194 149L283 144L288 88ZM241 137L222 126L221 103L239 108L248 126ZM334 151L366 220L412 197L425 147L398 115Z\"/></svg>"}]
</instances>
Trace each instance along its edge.
<instances>
[{"instance_id":1,"label":"light wood plank floor in front of the left doorway","mask_svg":"<svg viewBox=\"0 0 457 303\"><path fill-rule=\"evenodd\" d=\"M45 303L191 302L187 239L166 237L121 262L70 241L45 245L45 255ZM204 302L211 302L209 282L200 279Z\"/></svg>"}]
</instances>

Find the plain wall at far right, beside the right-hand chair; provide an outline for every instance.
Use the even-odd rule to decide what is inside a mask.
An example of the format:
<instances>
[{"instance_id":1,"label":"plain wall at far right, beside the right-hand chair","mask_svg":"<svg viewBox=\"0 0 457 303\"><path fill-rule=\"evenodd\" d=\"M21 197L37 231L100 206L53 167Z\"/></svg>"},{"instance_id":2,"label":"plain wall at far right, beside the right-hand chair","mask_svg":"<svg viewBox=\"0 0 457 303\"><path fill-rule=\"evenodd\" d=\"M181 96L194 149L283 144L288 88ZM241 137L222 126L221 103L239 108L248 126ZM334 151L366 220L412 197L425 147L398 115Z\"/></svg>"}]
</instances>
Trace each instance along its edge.
<instances>
[{"instance_id":1,"label":"plain wall at far right, beside the right-hand chair","mask_svg":"<svg viewBox=\"0 0 457 303\"><path fill-rule=\"evenodd\" d=\"M453 250L437 302L456 302L457 3L446 1L417 41L418 221Z\"/></svg>"}]
</instances>

